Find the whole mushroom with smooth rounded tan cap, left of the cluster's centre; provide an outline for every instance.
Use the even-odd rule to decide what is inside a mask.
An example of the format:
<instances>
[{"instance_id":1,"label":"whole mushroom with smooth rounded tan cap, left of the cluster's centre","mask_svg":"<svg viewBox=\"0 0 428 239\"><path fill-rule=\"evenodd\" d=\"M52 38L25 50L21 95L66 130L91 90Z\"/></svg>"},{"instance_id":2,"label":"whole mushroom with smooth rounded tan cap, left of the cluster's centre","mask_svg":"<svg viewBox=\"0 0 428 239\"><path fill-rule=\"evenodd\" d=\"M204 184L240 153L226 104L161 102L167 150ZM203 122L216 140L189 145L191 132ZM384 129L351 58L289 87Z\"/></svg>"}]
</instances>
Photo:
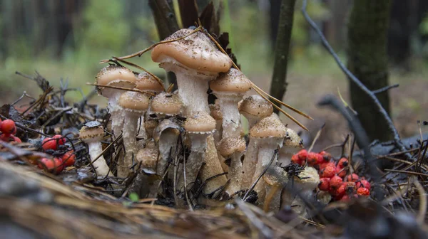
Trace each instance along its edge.
<instances>
[{"instance_id":1,"label":"whole mushroom with smooth rounded tan cap, left of the cluster's centre","mask_svg":"<svg viewBox=\"0 0 428 239\"><path fill-rule=\"evenodd\" d=\"M127 91L119 98L119 104L123 107L123 145L125 146L125 159L123 164L118 163L118 176L127 176L133 165L133 157L137 154L137 122L138 118L148 110L150 97L145 93ZM141 125L144 128L144 125Z\"/></svg>"}]
</instances>

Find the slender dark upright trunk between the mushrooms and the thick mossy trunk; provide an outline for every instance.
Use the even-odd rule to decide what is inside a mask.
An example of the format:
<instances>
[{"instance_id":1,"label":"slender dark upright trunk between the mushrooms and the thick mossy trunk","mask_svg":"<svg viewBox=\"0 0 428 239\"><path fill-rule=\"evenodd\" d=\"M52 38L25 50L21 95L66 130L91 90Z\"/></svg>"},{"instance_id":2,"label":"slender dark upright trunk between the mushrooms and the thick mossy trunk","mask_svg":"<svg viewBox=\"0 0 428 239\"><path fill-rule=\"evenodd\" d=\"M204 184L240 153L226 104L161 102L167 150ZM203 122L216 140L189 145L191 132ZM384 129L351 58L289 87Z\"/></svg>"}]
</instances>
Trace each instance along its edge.
<instances>
[{"instance_id":1,"label":"slender dark upright trunk between the mushrooms and the thick mossy trunk","mask_svg":"<svg viewBox=\"0 0 428 239\"><path fill-rule=\"evenodd\" d=\"M275 43L275 63L273 66L270 95L282 100L287 90L287 60L290 50L292 20L296 0L282 0L280 10L280 23L278 25ZM275 104L277 104L275 102ZM279 107L280 105L277 104ZM278 112L275 109L275 112Z\"/></svg>"}]
</instances>

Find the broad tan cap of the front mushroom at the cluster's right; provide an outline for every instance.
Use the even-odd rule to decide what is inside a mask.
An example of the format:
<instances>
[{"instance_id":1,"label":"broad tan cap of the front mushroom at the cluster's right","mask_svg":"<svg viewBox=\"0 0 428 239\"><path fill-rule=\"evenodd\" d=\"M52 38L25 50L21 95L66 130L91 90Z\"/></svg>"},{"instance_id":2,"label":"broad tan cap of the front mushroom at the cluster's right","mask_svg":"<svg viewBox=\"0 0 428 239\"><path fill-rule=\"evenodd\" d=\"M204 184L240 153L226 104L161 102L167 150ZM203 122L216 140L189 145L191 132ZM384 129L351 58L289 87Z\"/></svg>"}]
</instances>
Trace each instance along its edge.
<instances>
[{"instance_id":1,"label":"broad tan cap of the front mushroom at the cluster's right","mask_svg":"<svg viewBox=\"0 0 428 239\"><path fill-rule=\"evenodd\" d=\"M275 137L283 138L287 133L287 128L282 124L279 117L275 114L260 119L257 124L254 124L250 129L250 137Z\"/></svg>"}]
</instances>

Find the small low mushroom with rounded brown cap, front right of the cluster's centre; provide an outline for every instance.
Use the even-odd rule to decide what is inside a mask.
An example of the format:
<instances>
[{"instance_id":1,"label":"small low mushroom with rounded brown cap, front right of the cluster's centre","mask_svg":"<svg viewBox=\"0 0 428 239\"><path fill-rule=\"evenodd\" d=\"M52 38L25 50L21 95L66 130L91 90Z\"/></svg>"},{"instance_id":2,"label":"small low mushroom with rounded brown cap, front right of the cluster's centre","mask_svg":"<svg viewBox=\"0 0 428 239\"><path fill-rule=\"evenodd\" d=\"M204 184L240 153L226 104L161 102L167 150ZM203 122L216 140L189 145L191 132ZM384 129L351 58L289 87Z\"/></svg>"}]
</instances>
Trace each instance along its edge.
<instances>
[{"instance_id":1,"label":"small low mushroom with rounded brown cap, front right of the cluster's centre","mask_svg":"<svg viewBox=\"0 0 428 239\"><path fill-rule=\"evenodd\" d=\"M241 179L243 176L243 164L241 162L241 156L245 151L245 141L241 137L227 137L221 139L218 143L218 152L225 157L230 158L230 167L228 173L228 179L230 184L226 189L228 195L232 195L237 191L240 191Z\"/></svg>"}]
</instances>

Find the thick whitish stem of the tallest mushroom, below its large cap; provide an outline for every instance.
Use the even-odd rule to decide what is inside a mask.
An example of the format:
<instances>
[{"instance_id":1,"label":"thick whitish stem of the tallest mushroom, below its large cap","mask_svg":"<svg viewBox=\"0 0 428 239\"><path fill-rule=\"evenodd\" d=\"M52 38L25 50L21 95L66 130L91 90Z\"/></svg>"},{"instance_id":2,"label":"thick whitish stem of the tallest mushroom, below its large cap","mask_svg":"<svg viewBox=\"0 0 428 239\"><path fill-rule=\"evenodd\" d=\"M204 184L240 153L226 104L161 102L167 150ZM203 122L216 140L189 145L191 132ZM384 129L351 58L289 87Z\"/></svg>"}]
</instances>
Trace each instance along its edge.
<instances>
[{"instance_id":1,"label":"thick whitish stem of the tallest mushroom, below its large cap","mask_svg":"<svg viewBox=\"0 0 428 239\"><path fill-rule=\"evenodd\" d=\"M175 73L178 95L184 105L184 115L191 115L195 112L207 112L209 114L208 81L217 77L217 74L205 75L185 68L173 58L168 60L172 63L161 63L161 66L166 71Z\"/></svg>"}]
</instances>

